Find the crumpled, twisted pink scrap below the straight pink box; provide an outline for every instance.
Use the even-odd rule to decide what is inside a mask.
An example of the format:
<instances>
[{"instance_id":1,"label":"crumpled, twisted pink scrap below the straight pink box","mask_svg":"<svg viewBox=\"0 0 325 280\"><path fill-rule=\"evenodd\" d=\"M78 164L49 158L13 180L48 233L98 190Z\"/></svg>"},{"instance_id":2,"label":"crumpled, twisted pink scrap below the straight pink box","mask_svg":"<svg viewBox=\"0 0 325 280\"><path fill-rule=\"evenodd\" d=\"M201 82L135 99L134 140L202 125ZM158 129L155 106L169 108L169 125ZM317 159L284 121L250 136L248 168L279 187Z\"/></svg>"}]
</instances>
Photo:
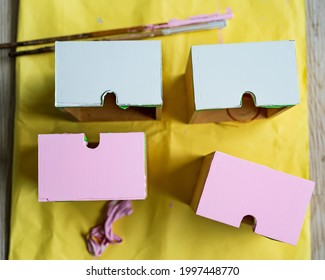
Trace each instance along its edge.
<instances>
[{"instance_id":1,"label":"crumpled, twisted pink scrap below the straight pink box","mask_svg":"<svg viewBox=\"0 0 325 280\"><path fill-rule=\"evenodd\" d=\"M93 227L87 236L86 242L89 253L94 256L100 256L109 244L121 243L123 239L112 231L113 223L132 213L130 200L108 202L105 223Z\"/></svg>"}]
</instances>

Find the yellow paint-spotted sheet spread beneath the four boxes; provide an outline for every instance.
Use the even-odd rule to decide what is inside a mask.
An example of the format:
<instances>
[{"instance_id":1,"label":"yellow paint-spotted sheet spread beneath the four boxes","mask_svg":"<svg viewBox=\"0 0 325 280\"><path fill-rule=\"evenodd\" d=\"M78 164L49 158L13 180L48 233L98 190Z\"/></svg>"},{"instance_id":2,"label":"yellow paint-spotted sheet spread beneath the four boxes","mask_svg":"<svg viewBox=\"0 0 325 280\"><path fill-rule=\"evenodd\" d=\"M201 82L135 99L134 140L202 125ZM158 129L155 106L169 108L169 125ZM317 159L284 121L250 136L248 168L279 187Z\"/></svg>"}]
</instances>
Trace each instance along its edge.
<instances>
[{"instance_id":1,"label":"yellow paint-spotted sheet spread beneath the four boxes","mask_svg":"<svg viewBox=\"0 0 325 280\"><path fill-rule=\"evenodd\" d=\"M222 31L156 38L163 52L162 121L72 121L54 107L54 55L17 59L10 259L94 258L85 235L102 220L105 202L39 203L37 136L85 132L95 141L100 132L121 131L146 133L148 197L134 201L134 214L114 224L124 241L109 246L100 259L310 258L309 212L295 247L248 226L237 229L196 216L189 206L203 157L215 150L308 178L303 0L21 0L18 40L158 23L227 7L235 17ZM296 40L301 104L247 124L187 124L184 71L190 46L216 44L220 36L223 43Z\"/></svg>"}]
</instances>

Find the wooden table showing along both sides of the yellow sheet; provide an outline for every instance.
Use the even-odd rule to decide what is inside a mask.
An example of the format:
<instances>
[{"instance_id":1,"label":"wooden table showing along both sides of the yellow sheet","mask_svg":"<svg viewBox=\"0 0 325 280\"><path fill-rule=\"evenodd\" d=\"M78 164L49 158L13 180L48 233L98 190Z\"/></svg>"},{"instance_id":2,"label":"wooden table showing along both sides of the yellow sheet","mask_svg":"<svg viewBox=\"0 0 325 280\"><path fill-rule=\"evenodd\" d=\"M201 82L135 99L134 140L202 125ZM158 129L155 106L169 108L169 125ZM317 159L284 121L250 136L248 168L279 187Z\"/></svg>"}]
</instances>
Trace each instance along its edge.
<instances>
[{"instance_id":1,"label":"wooden table showing along both sides of the yellow sheet","mask_svg":"<svg viewBox=\"0 0 325 280\"><path fill-rule=\"evenodd\" d=\"M15 41L18 0L0 0L0 42ZM306 1L312 258L325 259L325 1ZM15 65L0 50L0 259L9 249Z\"/></svg>"}]
</instances>

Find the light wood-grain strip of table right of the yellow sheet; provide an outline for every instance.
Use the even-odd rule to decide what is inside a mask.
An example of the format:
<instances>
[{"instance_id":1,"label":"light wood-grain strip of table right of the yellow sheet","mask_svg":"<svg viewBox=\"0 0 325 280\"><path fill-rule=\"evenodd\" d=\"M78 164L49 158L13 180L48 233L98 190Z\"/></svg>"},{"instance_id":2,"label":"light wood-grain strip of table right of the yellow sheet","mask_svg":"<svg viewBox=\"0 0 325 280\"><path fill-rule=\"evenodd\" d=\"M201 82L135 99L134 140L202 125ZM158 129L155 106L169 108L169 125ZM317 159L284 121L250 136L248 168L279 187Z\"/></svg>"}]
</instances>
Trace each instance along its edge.
<instances>
[{"instance_id":1,"label":"light wood-grain strip of table right of the yellow sheet","mask_svg":"<svg viewBox=\"0 0 325 280\"><path fill-rule=\"evenodd\" d=\"M306 1L312 258L325 259L325 1Z\"/></svg>"}]
</instances>

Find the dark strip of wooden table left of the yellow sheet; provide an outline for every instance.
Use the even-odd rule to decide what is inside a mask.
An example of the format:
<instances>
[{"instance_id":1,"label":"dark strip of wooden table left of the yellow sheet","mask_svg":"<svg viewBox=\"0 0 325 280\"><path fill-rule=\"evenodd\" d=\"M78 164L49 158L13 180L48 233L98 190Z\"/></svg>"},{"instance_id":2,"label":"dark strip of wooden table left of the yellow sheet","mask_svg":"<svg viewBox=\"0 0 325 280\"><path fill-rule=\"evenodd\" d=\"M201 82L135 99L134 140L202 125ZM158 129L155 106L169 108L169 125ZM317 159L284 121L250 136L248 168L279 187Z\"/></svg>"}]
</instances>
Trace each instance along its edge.
<instances>
[{"instance_id":1,"label":"dark strip of wooden table left of the yellow sheet","mask_svg":"<svg viewBox=\"0 0 325 280\"><path fill-rule=\"evenodd\" d=\"M16 39L17 0L0 0L0 42ZM0 51L0 259L9 248L15 61Z\"/></svg>"}]
</instances>

